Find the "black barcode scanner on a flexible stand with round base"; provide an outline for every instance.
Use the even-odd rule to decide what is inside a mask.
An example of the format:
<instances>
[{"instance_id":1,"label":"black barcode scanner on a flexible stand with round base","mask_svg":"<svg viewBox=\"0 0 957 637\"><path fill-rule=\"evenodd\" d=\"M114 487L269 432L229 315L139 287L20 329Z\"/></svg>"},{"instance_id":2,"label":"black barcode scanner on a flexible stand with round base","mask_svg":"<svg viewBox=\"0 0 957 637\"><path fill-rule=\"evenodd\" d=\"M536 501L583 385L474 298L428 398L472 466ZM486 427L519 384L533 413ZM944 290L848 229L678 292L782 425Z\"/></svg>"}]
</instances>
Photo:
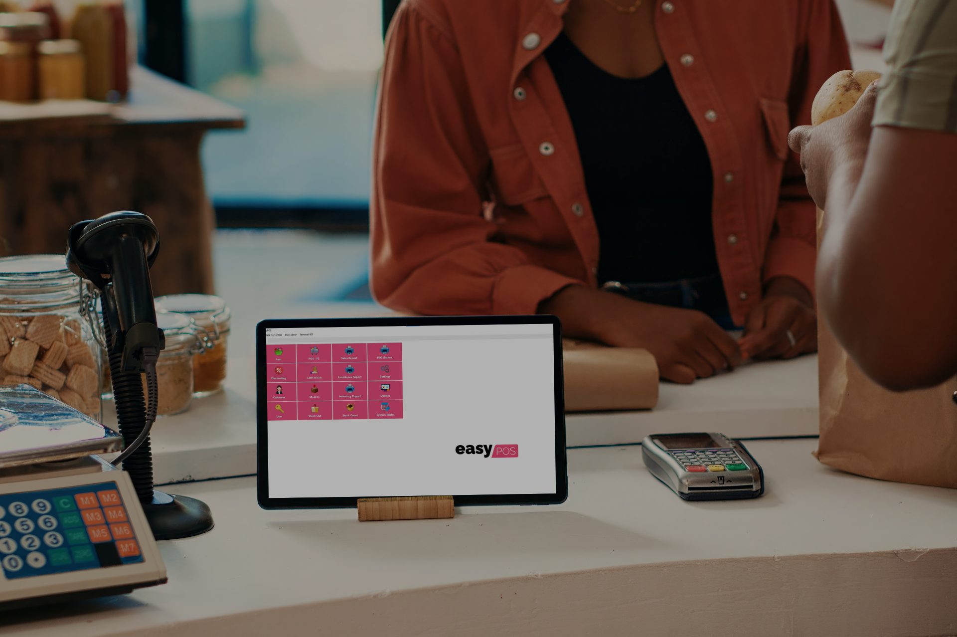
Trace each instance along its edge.
<instances>
[{"instance_id":1,"label":"black barcode scanner on a flexible stand with round base","mask_svg":"<svg viewBox=\"0 0 957 637\"><path fill-rule=\"evenodd\" d=\"M165 340L156 324L149 269L159 252L160 233L153 220L122 210L74 224L66 262L71 272L100 290L113 398L126 443L113 464L122 463L129 473L155 538L188 538L212 528L210 508L191 497L153 490L149 429L156 420L156 361Z\"/></svg>"}]
</instances>

